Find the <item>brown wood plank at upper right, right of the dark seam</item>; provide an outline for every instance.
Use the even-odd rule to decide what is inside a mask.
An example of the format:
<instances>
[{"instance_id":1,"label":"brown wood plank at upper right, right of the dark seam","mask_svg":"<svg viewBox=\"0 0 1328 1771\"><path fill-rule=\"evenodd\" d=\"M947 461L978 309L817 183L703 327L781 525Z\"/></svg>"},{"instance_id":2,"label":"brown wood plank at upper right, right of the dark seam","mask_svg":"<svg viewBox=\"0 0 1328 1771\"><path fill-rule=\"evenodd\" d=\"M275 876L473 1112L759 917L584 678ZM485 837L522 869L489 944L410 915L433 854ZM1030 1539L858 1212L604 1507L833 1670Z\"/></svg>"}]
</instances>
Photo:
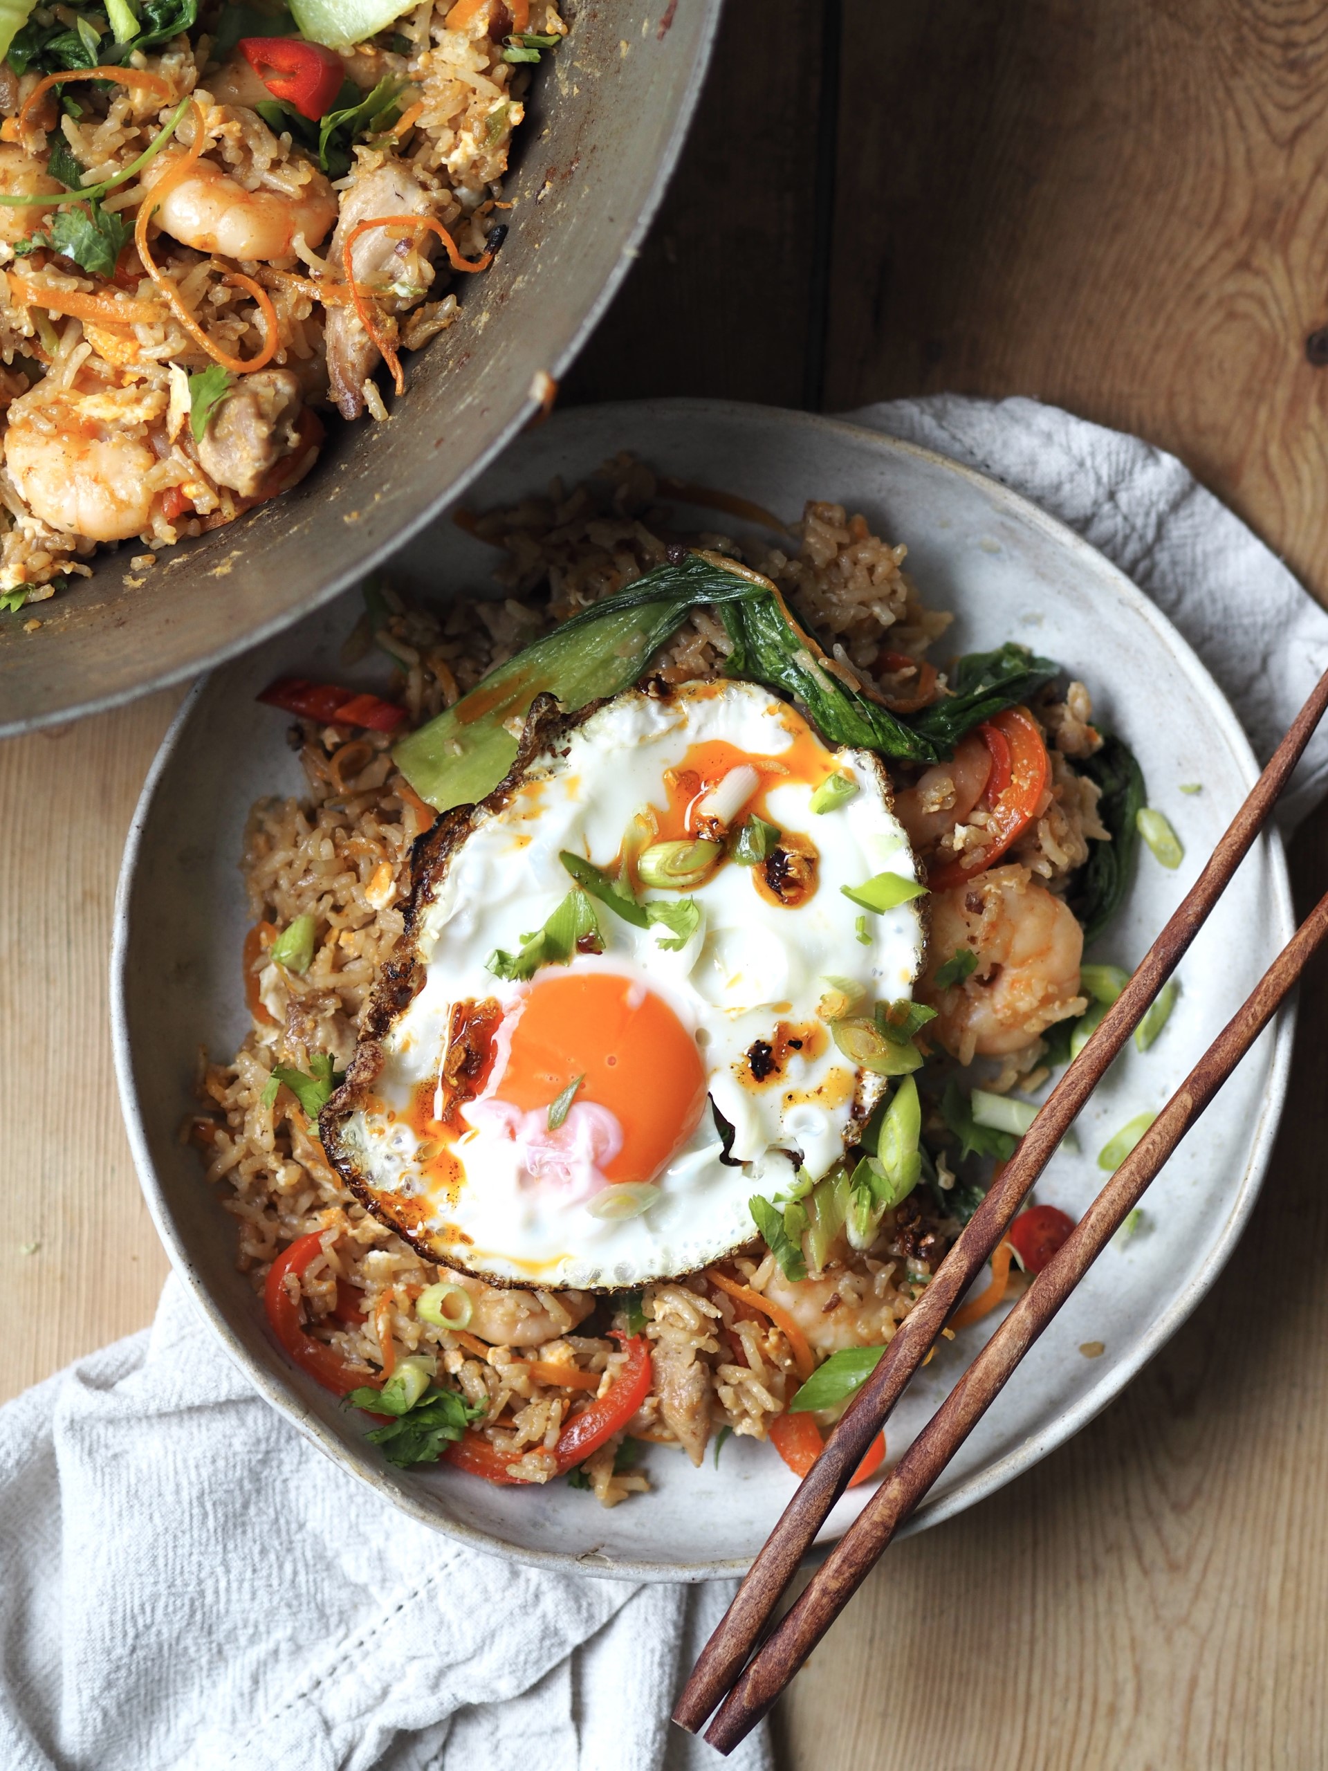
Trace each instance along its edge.
<instances>
[{"instance_id":1,"label":"brown wood plank at upper right, right of the dark seam","mask_svg":"<svg viewBox=\"0 0 1328 1771\"><path fill-rule=\"evenodd\" d=\"M827 406L1036 395L1328 590L1328 14L846 0Z\"/></svg>"}]
</instances>

